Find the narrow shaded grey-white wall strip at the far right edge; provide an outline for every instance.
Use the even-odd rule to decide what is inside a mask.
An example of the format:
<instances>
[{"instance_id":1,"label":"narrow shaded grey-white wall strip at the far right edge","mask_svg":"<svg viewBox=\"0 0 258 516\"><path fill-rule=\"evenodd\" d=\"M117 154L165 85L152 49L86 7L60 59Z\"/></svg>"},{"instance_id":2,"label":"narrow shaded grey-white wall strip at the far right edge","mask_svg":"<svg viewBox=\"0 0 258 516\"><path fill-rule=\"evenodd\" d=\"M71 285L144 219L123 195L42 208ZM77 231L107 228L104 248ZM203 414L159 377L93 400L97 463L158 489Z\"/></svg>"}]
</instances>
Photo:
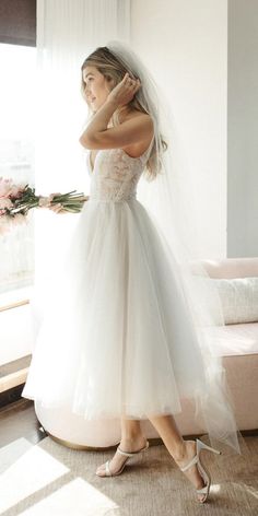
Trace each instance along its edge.
<instances>
[{"instance_id":1,"label":"narrow shaded grey-white wall strip at the far right edge","mask_svg":"<svg viewBox=\"0 0 258 516\"><path fill-rule=\"evenodd\" d=\"M258 256L258 1L228 0L228 256Z\"/></svg>"}]
</instances>

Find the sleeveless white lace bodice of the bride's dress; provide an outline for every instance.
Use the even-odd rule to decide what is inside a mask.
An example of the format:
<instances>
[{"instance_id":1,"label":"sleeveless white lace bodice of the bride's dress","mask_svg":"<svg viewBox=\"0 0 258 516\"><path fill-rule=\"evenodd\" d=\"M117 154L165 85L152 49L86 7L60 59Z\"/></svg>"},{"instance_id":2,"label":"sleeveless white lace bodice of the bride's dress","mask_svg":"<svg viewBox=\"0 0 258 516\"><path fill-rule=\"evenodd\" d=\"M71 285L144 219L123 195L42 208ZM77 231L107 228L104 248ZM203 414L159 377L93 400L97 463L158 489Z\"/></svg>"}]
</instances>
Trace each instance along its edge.
<instances>
[{"instance_id":1,"label":"sleeveless white lace bodice of the bride's dress","mask_svg":"<svg viewBox=\"0 0 258 516\"><path fill-rule=\"evenodd\" d=\"M136 199L137 185L148 161L152 141L139 157L129 156L122 149L99 150L95 157L94 169L89 151L90 200L121 202Z\"/></svg>"}]
</instances>

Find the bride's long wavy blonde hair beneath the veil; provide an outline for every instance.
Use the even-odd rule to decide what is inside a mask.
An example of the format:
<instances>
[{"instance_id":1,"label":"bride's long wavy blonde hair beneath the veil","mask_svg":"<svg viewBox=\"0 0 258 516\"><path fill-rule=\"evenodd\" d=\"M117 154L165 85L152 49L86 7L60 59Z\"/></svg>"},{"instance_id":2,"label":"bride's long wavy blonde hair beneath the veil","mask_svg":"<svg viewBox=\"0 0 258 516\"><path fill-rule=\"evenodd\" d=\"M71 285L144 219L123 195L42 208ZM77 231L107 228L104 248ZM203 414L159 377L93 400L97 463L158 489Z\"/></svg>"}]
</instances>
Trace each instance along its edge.
<instances>
[{"instance_id":1,"label":"bride's long wavy blonde hair beneath the veil","mask_svg":"<svg viewBox=\"0 0 258 516\"><path fill-rule=\"evenodd\" d=\"M84 101L86 102L89 106L90 116L91 116L91 114L93 115L93 110L85 95L85 82L83 79L83 70L85 67L89 67L89 66L95 67L98 70L98 72L101 72L104 75L106 81L110 84L110 90L113 90L122 80L122 78L125 77L125 73L128 70L125 68L124 63L119 59L117 59L117 57L114 56L114 54L112 54L112 51L107 47L98 47L96 48L96 50L90 54L90 56L87 56L87 58L83 61L81 66L81 72L82 72L81 73L81 93ZM143 106L139 103L137 98L137 93L133 96L133 98L127 104L127 107L129 109L137 109L138 112L142 112L142 113L145 113L146 115L150 115L143 108ZM110 118L110 122L113 126L118 126L120 124L119 113L120 110L118 108L113 114ZM163 151L165 151L167 149L167 143L163 140L162 137L161 137L161 142L162 142ZM157 166L156 164L155 154L156 154L156 149L155 149L155 145L153 145L151 153L149 155L146 165L145 165L146 172L144 172L145 178L148 180L153 180L156 177L156 175L161 172L161 167Z\"/></svg>"}]
</instances>

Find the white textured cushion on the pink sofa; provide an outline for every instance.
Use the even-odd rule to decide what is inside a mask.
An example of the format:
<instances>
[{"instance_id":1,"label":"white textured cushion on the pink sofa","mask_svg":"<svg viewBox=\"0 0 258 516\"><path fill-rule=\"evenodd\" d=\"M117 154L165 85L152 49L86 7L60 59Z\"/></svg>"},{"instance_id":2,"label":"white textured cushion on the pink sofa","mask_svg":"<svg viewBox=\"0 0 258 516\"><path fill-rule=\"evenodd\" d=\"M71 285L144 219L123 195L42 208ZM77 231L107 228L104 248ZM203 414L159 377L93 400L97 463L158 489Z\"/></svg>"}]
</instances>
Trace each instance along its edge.
<instances>
[{"instance_id":1,"label":"white textured cushion on the pink sofa","mask_svg":"<svg viewBox=\"0 0 258 516\"><path fill-rule=\"evenodd\" d=\"M213 279L226 325L258 321L258 278Z\"/></svg>"}]
</instances>

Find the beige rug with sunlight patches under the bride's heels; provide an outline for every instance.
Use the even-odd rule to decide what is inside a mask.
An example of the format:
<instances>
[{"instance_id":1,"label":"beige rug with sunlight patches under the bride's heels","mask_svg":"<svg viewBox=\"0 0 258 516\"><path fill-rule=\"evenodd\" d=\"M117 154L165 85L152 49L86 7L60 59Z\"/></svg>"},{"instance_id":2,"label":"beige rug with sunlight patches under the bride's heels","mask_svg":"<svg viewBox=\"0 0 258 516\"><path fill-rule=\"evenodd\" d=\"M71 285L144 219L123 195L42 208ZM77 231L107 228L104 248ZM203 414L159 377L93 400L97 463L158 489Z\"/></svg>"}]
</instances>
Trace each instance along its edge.
<instances>
[{"instance_id":1,"label":"beige rug with sunlight patches under the bride's heels","mask_svg":"<svg viewBox=\"0 0 258 516\"><path fill-rule=\"evenodd\" d=\"M122 473L98 478L114 450L74 450L46 437L20 438L0 449L0 514L4 516L257 516L258 436L245 437L248 456L203 453L212 477L209 503L164 445L130 458Z\"/></svg>"}]
</instances>

